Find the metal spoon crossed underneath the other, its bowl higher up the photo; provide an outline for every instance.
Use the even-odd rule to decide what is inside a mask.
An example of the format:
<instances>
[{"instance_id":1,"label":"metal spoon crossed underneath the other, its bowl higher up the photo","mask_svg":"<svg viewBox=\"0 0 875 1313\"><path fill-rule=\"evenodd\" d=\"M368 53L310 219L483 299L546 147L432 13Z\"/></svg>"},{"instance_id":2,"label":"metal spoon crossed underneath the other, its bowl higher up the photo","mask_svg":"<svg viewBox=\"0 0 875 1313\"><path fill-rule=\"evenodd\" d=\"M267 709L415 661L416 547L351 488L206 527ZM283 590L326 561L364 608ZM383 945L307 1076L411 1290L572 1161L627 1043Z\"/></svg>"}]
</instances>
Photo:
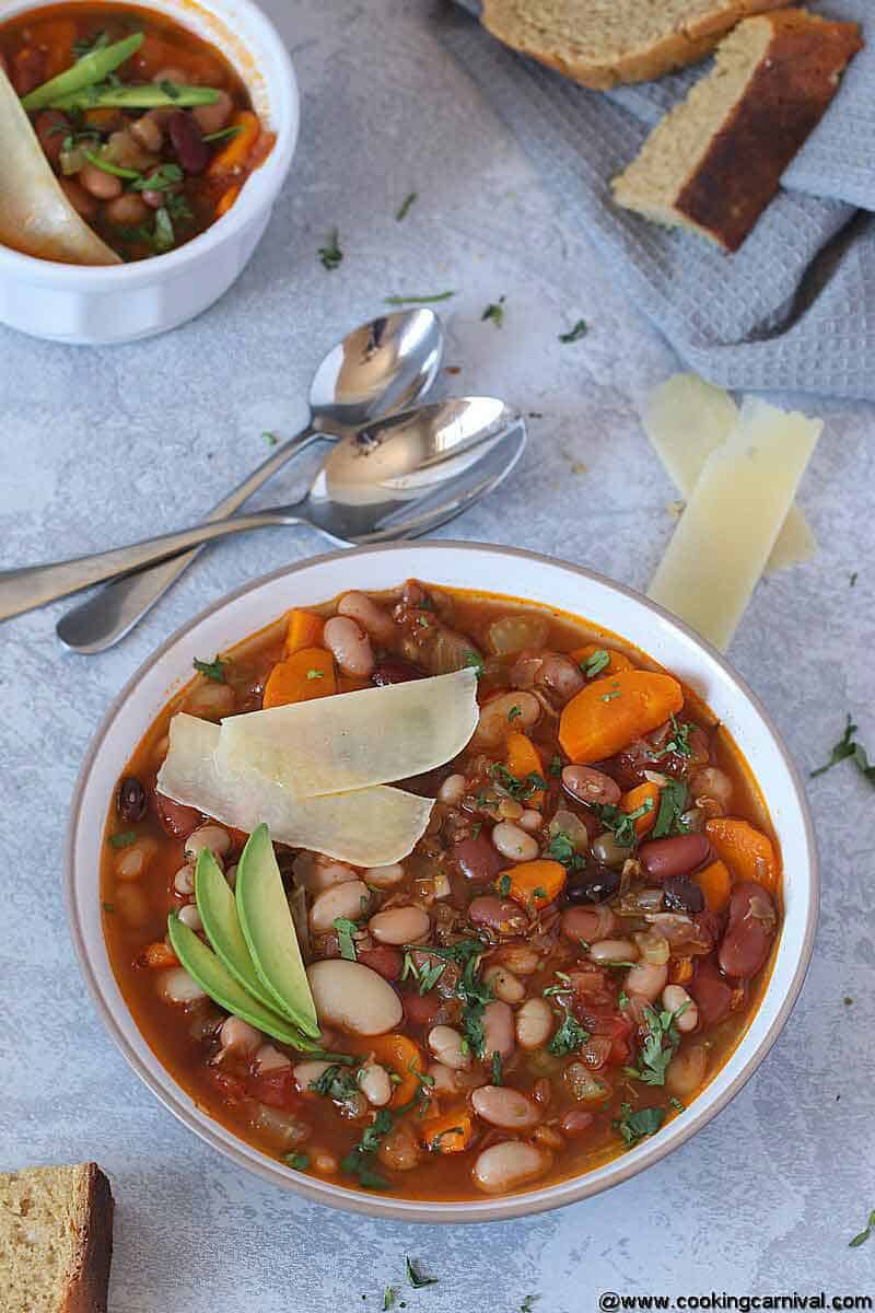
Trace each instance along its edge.
<instances>
[{"instance_id":1,"label":"metal spoon crossed underneath the other, its bowl higher up the photo","mask_svg":"<svg viewBox=\"0 0 875 1313\"><path fill-rule=\"evenodd\" d=\"M222 520L243 506L298 452L345 428L371 424L424 399L443 357L443 326L432 310L404 310L361 324L328 352L310 387L310 423L277 446L206 516ZM161 565L122 575L62 616L55 632L77 653L105 651L127 634L182 571L194 548Z\"/></svg>"}]
</instances>

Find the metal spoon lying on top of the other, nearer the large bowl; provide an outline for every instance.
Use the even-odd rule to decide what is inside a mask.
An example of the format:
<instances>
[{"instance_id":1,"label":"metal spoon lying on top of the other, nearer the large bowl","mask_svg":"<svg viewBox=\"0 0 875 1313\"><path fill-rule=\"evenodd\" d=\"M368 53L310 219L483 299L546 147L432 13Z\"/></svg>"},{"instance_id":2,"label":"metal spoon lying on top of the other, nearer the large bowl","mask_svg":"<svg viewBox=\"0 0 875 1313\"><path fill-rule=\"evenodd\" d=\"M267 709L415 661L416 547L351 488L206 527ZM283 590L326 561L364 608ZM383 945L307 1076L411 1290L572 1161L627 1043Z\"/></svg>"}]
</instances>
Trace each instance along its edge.
<instances>
[{"instance_id":1,"label":"metal spoon lying on top of the other, nearer the large bowl","mask_svg":"<svg viewBox=\"0 0 875 1313\"><path fill-rule=\"evenodd\" d=\"M459 397L342 437L293 506L213 520L129 548L0 571L0 620L202 542L265 525L310 524L341 546L428 533L496 487L526 444L519 412L493 397Z\"/></svg>"}]
</instances>

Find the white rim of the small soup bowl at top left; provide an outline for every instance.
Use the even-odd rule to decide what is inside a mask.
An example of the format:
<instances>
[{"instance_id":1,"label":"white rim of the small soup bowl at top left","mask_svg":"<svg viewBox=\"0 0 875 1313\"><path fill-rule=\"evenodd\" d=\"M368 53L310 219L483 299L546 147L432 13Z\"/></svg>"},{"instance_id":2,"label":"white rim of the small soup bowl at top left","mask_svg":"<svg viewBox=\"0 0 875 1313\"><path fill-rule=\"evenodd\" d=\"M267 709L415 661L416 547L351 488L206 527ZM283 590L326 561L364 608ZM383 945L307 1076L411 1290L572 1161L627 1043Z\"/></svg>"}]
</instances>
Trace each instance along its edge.
<instances>
[{"instance_id":1,"label":"white rim of the small soup bowl at top left","mask_svg":"<svg viewBox=\"0 0 875 1313\"><path fill-rule=\"evenodd\" d=\"M55 0L12 0L8 7L0 3L0 22L5 22L17 13L26 13L30 9L43 9L52 5ZM110 3L110 0L105 0ZM135 3L144 9L150 8L150 0L126 0ZM174 4L174 0L171 0ZM135 260L130 264L112 265L80 265L67 264L63 260L42 260L38 256L26 255L24 251L14 251L12 247L0 243L0 277L14 277L28 282L45 285L52 284L66 290L88 290L94 293L112 293L122 288L131 289L155 282L156 277L173 278L181 273L185 265L197 264L210 255L215 247L240 234L252 219L252 214L262 205L270 204L291 167L291 160L298 144L300 129L300 92L298 77L291 62L291 55L285 41L279 35L273 20L261 9L254 0L234 0L235 11L245 16L245 30L260 32L265 45L272 47L273 56L278 67L278 75L270 77L264 75L265 85L274 91L283 84L277 96L277 106L283 110L283 119L275 123L277 140L264 164L249 175L240 196L231 209L218 218L209 228L199 232L190 242L167 251L163 255L150 256L147 260ZM197 0L197 7L207 13L215 14L230 24L223 12L222 0ZM8 13L7 13L8 8ZM174 18L181 26L186 26L186 11L182 5L174 4L178 9ZM245 45L245 38L240 38ZM240 74L243 77L243 74ZM244 79L245 81L245 79Z\"/></svg>"}]
</instances>

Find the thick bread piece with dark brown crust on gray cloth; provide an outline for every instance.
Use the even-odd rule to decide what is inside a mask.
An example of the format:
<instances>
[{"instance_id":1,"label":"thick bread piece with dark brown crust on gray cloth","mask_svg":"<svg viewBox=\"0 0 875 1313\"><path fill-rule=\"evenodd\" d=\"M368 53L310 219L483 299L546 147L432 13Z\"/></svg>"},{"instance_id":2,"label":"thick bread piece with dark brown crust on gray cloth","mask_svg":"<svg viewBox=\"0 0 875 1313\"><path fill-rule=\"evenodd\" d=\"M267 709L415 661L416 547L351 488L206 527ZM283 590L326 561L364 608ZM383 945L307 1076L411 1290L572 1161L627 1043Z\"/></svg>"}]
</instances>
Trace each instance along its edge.
<instances>
[{"instance_id":1,"label":"thick bread piece with dark brown crust on gray cloth","mask_svg":"<svg viewBox=\"0 0 875 1313\"><path fill-rule=\"evenodd\" d=\"M614 179L618 204L737 251L862 45L857 24L804 9L739 24Z\"/></svg>"}]
</instances>

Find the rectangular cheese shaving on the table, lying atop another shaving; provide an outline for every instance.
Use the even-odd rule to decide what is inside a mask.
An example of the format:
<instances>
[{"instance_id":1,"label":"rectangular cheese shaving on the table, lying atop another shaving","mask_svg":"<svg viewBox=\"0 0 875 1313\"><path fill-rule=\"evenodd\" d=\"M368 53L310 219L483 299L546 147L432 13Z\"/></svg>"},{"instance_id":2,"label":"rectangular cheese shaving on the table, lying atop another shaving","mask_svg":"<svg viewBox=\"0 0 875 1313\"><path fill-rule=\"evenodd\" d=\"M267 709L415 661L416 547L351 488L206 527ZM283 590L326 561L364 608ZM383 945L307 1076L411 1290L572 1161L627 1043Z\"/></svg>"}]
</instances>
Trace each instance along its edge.
<instances>
[{"instance_id":1,"label":"rectangular cheese shaving on the table, lying atop another shaving","mask_svg":"<svg viewBox=\"0 0 875 1313\"><path fill-rule=\"evenodd\" d=\"M716 647L732 641L823 427L746 398L704 462L648 596Z\"/></svg>"}]
</instances>

